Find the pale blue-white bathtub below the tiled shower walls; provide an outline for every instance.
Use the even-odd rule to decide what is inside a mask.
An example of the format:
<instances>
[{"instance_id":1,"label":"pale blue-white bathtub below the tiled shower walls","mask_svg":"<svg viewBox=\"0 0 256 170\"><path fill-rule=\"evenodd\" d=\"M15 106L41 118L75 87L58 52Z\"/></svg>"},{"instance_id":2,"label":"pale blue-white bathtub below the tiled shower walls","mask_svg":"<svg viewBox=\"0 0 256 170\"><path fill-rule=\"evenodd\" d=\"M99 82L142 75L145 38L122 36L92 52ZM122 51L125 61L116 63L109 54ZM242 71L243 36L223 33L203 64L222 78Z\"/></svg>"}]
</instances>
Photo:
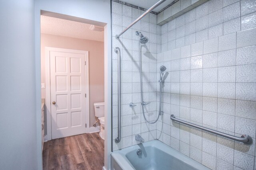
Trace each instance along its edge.
<instances>
[{"instance_id":1,"label":"pale blue-white bathtub below the tiled shower walls","mask_svg":"<svg viewBox=\"0 0 256 170\"><path fill-rule=\"evenodd\" d=\"M142 154L137 155L141 149ZM111 153L111 170L210 170L164 143L153 140Z\"/></svg>"}]
</instances>

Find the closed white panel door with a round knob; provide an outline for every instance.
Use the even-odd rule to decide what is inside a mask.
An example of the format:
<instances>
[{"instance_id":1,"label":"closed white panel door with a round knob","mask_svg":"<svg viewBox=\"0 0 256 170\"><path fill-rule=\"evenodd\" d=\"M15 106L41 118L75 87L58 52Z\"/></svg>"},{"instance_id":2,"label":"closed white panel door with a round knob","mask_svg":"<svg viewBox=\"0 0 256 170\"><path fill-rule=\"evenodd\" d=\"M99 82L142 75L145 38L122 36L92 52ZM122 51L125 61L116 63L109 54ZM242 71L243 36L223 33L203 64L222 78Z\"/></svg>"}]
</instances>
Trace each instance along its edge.
<instances>
[{"instance_id":1,"label":"closed white panel door with a round knob","mask_svg":"<svg viewBox=\"0 0 256 170\"><path fill-rule=\"evenodd\" d=\"M85 55L50 51L52 139L86 133Z\"/></svg>"}]
</instances>

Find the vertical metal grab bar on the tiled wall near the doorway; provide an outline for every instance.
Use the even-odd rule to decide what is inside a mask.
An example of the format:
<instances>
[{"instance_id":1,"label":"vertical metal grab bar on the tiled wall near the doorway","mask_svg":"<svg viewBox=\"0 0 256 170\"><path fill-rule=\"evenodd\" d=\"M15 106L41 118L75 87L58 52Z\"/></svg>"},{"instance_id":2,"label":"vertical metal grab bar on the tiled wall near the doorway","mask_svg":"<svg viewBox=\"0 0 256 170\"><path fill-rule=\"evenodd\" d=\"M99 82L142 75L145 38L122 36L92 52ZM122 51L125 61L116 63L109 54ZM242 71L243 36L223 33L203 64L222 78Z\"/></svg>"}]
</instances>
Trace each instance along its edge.
<instances>
[{"instance_id":1,"label":"vertical metal grab bar on the tiled wall near the doorway","mask_svg":"<svg viewBox=\"0 0 256 170\"><path fill-rule=\"evenodd\" d=\"M117 66L117 82L118 82L118 95L117 95L117 100L118 100L118 137L116 137L115 142L119 143L121 140L121 59L120 59L120 48L116 47L115 52L118 55L117 61L118 61L118 66Z\"/></svg>"}]
</instances>

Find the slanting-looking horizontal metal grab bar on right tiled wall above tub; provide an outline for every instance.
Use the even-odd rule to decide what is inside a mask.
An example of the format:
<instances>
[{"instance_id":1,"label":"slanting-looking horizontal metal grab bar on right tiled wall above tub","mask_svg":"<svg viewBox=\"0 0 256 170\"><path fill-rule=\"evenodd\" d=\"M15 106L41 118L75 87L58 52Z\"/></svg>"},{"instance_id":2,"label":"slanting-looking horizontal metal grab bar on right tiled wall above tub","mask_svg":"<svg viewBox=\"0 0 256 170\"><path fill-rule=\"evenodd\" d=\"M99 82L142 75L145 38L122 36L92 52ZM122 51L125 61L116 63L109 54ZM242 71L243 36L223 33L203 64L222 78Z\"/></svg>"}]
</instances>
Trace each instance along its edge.
<instances>
[{"instance_id":1,"label":"slanting-looking horizontal metal grab bar on right tiled wall above tub","mask_svg":"<svg viewBox=\"0 0 256 170\"><path fill-rule=\"evenodd\" d=\"M173 121L182 123L184 125L195 127L197 129L201 129L203 131L206 131L206 132L209 132L209 133L212 133L212 134L215 134L215 135L219 135L219 136L222 136L222 137L225 137L225 138L228 138L228 139L232 139L234 141L243 142L244 144L248 144L248 145L252 144L252 138L249 135L242 135L241 137L236 137L236 136L233 136L233 135L229 135L227 133L222 133L220 131L215 131L213 129L209 129L209 128L202 127L202 126L199 126L199 125L196 125L196 124L193 124L193 123L189 123L187 121L177 119L175 117L175 115L171 115L171 119Z\"/></svg>"}]
</instances>

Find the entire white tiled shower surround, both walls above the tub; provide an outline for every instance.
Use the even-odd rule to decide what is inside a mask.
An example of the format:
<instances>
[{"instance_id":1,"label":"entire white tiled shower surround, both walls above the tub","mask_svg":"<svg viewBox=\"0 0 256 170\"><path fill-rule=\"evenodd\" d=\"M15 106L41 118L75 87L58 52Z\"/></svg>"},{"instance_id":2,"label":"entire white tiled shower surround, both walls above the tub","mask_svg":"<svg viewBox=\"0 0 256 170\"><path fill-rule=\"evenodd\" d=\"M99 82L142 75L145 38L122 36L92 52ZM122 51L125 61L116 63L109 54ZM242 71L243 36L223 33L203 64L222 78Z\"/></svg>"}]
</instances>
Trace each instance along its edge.
<instances>
[{"instance_id":1,"label":"entire white tiled shower surround, both walls above the tub","mask_svg":"<svg viewBox=\"0 0 256 170\"><path fill-rule=\"evenodd\" d=\"M160 26L150 14L120 37L144 11L112 1L113 150L158 139L211 169L255 170L256 137L256 1L209 0ZM164 76L163 111L156 124L145 122L140 107L139 37L142 47L146 116L156 119L159 107L159 68ZM117 55L122 58L122 139L117 137ZM157 53L157 56L156 56ZM157 59L157 60L156 60ZM129 103L137 106L131 108ZM170 115L229 133L248 134L252 145L234 142L180 125ZM148 116L150 115L150 116Z\"/></svg>"}]
</instances>

